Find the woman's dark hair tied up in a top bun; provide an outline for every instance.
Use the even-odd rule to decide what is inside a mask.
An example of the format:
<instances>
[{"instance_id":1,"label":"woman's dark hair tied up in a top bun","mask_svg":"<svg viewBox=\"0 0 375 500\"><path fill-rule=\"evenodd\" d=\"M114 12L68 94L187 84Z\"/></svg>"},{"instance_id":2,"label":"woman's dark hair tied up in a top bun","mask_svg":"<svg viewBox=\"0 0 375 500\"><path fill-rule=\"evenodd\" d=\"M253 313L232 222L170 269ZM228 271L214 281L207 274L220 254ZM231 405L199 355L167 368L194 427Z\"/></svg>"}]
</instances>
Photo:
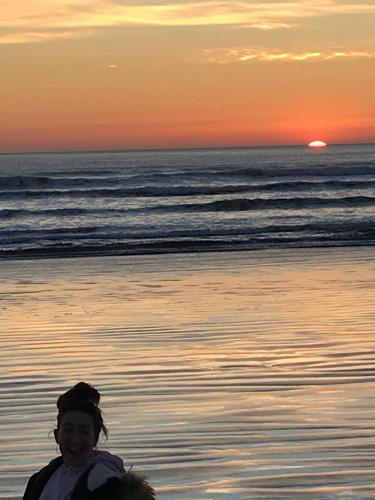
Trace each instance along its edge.
<instances>
[{"instance_id":1,"label":"woman's dark hair tied up in a top bun","mask_svg":"<svg viewBox=\"0 0 375 500\"><path fill-rule=\"evenodd\" d=\"M108 437L108 431L104 425L102 411L99 408L100 393L86 382L79 382L57 400L57 427L61 424L64 414L68 411L82 411L90 415L94 422L96 440L99 439L100 431Z\"/></svg>"}]
</instances>

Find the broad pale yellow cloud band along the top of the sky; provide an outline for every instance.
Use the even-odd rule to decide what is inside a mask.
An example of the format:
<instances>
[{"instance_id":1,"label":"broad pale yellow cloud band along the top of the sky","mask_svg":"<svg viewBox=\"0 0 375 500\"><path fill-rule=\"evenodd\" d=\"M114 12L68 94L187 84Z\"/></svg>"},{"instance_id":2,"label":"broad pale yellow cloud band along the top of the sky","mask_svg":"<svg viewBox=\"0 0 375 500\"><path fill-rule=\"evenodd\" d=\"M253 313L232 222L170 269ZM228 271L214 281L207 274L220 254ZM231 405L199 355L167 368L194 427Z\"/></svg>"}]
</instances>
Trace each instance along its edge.
<instances>
[{"instance_id":1,"label":"broad pale yellow cloud band along the top of the sky","mask_svg":"<svg viewBox=\"0 0 375 500\"><path fill-rule=\"evenodd\" d=\"M288 28L308 17L332 14L375 14L365 0L32 0L1 2L0 30L24 29L63 33L112 26L231 25L270 30ZM78 33L78 31L77 31ZM76 34L77 34L76 33ZM5 35L4 35L5 36ZM14 38L17 40L17 37ZM29 41L46 37L25 36ZM11 38L8 38L11 40ZM10 43L10 42L9 42Z\"/></svg>"}]
</instances>

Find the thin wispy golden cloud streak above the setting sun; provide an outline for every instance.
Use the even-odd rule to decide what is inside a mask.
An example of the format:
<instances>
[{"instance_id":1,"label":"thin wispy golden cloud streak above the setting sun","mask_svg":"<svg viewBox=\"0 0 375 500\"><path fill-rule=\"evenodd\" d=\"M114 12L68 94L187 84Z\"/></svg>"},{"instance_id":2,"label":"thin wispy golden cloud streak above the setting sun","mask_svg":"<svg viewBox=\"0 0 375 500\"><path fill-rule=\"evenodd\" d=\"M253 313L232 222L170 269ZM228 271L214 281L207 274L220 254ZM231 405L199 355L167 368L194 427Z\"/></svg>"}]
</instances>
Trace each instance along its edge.
<instances>
[{"instance_id":1,"label":"thin wispy golden cloud streak above the setting sun","mask_svg":"<svg viewBox=\"0 0 375 500\"><path fill-rule=\"evenodd\" d=\"M375 50L284 52L261 48L232 47L206 49L195 60L200 63L233 64L251 61L329 61L332 59L374 58Z\"/></svg>"}]
</instances>

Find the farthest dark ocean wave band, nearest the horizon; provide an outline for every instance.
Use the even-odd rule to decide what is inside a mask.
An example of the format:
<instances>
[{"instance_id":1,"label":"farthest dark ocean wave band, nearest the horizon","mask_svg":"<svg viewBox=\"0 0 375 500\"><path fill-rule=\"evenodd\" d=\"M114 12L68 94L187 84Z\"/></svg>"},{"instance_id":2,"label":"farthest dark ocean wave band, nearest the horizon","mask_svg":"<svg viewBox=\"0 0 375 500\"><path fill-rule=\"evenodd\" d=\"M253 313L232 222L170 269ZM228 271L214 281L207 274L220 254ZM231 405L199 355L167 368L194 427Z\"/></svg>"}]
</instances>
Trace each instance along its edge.
<instances>
[{"instance_id":1,"label":"farthest dark ocean wave band, nearest the horizon","mask_svg":"<svg viewBox=\"0 0 375 500\"><path fill-rule=\"evenodd\" d=\"M249 160L248 160L249 161ZM280 163L264 164L264 165L205 165L204 168L196 166L188 166L186 168L171 168L163 165L154 165L152 169L143 168L142 173L136 169L77 169L64 170L63 172L48 172L43 174L17 174L17 175L0 175L0 188L2 191L7 190L33 190L44 188L75 188L77 186L121 186L124 183L134 184L135 186L149 185L155 186L162 184L163 186L190 183L192 180L196 182L204 182L213 179L228 180L230 178L243 177L247 181L294 178L298 180L310 181L312 177L317 179L321 177L331 177L333 180L338 178L375 176L375 161L356 161L351 163L318 163L309 164L306 161L300 164L283 165ZM351 179L350 179L351 180ZM370 180L364 178L363 181ZM374 181L374 179L372 179Z\"/></svg>"}]
</instances>

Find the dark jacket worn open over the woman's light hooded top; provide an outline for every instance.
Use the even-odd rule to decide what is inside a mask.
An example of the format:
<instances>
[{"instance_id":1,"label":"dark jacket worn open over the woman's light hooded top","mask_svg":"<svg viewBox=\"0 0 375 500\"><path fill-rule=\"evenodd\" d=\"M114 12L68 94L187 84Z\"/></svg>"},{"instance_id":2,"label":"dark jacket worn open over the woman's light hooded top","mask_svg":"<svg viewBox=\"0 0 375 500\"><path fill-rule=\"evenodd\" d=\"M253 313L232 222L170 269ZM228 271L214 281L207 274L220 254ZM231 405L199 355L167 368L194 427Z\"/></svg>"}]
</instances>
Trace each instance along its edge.
<instances>
[{"instance_id":1,"label":"dark jacket worn open over the woman's light hooded top","mask_svg":"<svg viewBox=\"0 0 375 500\"><path fill-rule=\"evenodd\" d=\"M31 476L27 483L23 500L39 500L49 478L62 463L62 457L58 457ZM94 465L86 469L78 478L72 492L71 500L120 500L121 497L119 494L122 481L118 477L111 477L96 490L89 491L87 479Z\"/></svg>"}]
</instances>

